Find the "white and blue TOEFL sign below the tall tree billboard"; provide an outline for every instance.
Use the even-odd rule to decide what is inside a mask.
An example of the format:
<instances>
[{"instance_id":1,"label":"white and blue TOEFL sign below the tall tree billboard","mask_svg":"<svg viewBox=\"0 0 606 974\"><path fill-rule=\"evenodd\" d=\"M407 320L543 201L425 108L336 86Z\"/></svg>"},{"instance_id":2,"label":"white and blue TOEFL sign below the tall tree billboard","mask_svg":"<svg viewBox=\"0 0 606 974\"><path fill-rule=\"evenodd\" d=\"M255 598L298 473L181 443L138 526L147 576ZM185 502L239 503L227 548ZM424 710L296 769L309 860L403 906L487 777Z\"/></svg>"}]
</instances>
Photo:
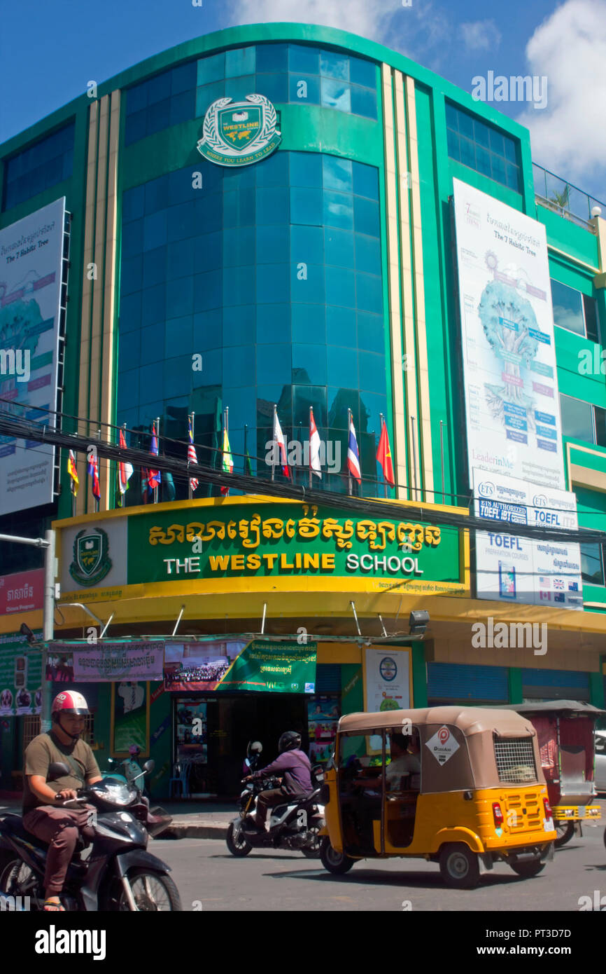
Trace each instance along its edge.
<instances>
[{"instance_id":1,"label":"white and blue TOEFL sign below the tall tree billboard","mask_svg":"<svg viewBox=\"0 0 606 974\"><path fill-rule=\"evenodd\" d=\"M576 530L577 499L514 477L474 471L475 512L502 525ZM476 532L478 598L495 602L583 609L579 544L522 538L507 531Z\"/></svg>"}]
</instances>

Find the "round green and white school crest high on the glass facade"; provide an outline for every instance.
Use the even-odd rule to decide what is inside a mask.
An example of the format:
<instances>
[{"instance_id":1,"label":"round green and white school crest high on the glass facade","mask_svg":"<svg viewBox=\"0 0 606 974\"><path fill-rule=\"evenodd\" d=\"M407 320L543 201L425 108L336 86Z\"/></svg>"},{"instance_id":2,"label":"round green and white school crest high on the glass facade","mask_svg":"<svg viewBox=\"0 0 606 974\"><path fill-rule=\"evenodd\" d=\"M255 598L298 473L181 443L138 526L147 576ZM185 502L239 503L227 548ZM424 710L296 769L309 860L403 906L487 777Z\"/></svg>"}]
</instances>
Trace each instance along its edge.
<instances>
[{"instance_id":1,"label":"round green and white school crest high on the glass facade","mask_svg":"<svg viewBox=\"0 0 606 974\"><path fill-rule=\"evenodd\" d=\"M277 149L275 108L265 94L247 94L245 101L218 98L204 116L197 151L218 166L248 166Z\"/></svg>"}]
</instances>

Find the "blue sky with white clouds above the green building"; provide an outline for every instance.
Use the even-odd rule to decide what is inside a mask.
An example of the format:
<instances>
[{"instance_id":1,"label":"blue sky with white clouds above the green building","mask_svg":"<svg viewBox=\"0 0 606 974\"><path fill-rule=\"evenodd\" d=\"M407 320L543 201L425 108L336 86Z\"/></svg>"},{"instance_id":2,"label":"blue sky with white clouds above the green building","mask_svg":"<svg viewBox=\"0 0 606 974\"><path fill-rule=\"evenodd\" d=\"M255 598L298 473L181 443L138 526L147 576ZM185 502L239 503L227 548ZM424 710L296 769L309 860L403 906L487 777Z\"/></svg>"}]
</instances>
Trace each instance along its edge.
<instances>
[{"instance_id":1,"label":"blue sky with white clouds above the green building","mask_svg":"<svg viewBox=\"0 0 606 974\"><path fill-rule=\"evenodd\" d=\"M606 0L30 0L0 28L0 142L144 57L235 23L304 20L372 37L468 92L475 77L547 78L547 107L495 102L533 160L606 201ZM606 214L605 214L606 215Z\"/></svg>"}]
</instances>

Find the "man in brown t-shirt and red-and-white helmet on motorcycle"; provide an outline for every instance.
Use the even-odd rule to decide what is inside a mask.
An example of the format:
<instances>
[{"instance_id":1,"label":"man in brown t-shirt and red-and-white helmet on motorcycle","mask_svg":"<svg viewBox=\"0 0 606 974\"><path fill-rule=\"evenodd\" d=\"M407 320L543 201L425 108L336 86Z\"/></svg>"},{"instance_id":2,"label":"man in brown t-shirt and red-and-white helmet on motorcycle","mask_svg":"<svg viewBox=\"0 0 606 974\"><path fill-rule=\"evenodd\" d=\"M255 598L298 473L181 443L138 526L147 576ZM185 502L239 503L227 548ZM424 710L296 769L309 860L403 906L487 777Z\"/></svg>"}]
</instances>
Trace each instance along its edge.
<instances>
[{"instance_id":1,"label":"man in brown t-shirt and red-and-white helmet on motorcycle","mask_svg":"<svg viewBox=\"0 0 606 974\"><path fill-rule=\"evenodd\" d=\"M67 867L80 832L91 837L87 828L91 806L62 808L57 802L76 798L76 789L101 781L99 766L81 733L89 704L82 693L63 691L53 699L53 729L38 734L25 748L23 775L23 827L36 838L49 843L45 872L45 904L48 912L64 908L59 900ZM49 767L61 762L70 773L48 781Z\"/></svg>"}]
</instances>

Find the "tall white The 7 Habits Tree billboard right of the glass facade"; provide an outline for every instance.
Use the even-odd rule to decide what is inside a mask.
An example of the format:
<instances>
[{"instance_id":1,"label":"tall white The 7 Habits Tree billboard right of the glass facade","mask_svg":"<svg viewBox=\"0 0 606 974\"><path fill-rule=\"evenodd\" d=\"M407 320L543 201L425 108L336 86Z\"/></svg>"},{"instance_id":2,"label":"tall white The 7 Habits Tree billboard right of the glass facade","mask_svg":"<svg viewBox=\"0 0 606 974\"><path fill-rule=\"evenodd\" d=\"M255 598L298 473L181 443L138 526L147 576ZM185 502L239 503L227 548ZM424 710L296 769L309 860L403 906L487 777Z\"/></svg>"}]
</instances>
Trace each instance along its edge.
<instances>
[{"instance_id":1,"label":"tall white The 7 Habits Tree billboard right of the glass facade","mask_svg":"<svg viewBox=\"0 0 606 974\"><path fill-rule=\"evenodd\" d=\"M453 185L470 483L477 468L563 490L545 227Z\"/></svg>"}]
</instances>

